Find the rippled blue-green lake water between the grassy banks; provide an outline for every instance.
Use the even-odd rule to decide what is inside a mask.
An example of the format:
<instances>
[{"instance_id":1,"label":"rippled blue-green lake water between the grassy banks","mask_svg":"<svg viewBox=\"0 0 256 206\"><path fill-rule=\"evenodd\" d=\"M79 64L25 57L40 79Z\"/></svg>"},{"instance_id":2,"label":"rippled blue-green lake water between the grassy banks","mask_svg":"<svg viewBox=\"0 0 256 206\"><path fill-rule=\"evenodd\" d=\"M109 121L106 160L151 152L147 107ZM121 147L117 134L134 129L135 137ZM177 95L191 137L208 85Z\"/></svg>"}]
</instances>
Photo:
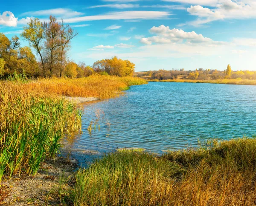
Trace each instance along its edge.
<instances>
[{"instance_id":1,"label":"rippled blue-green lake water between the grassy banks","mask_svg":"<svg viewBox=\"0 0 256 206\"><path fill-rule=\"evenodd\" d=\"M198 140L251 137L256 134L256 86L149 82L119 98L85 104L82 121L83 134L73 144L73 154L82 161L122 147L161 154L196 147ZM91 134L90 121L96 122Z\"/></svg>"}]
</instances>

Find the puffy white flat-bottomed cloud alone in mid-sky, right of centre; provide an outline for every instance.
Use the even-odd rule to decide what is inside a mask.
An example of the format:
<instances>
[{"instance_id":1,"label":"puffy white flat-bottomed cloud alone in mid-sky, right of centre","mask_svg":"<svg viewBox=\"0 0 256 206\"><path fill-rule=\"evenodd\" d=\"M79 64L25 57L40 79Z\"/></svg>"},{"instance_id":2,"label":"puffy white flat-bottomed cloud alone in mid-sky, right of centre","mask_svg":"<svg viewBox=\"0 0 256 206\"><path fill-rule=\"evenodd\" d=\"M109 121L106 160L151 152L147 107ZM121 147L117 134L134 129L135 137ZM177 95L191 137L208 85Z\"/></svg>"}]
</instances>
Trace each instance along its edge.
<instances>
[{"instance_id":1,"label":"puffy white flat-bottomed cloud alone in mid-sky, right of centre","mask_svg":"<svg viewBox=\"0 0 256 206\"><path fill-rule=\"evenodd\" d=\"M179 29L170 29L169 26L160 25L158 27L152 27L149 32L151 34L156 34L156 36L142 38L141 43L146 45L151 45L152 43L168 44L172 42L183 43L206 43L208 45L222 44L224 42L215 42L210 38L204 37L202 34L197 34L195 31L186 32Z\"/></svg>"}]
</instances>

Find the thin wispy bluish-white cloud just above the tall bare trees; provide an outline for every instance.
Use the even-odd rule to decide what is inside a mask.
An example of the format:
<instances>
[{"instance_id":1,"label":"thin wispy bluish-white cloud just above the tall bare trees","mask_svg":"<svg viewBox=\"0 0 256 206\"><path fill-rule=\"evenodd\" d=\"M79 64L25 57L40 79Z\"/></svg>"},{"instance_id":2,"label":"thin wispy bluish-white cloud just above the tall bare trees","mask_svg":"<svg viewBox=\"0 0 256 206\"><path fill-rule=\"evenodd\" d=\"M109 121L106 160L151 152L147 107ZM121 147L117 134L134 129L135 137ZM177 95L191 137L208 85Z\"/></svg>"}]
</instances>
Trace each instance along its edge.
<instances>
[{"instance_id":1,"label":"thin wispy bluish-white cloud just above the tall bare trees","mask_svg":"<svg viewBox=\"0 0 256 206\"><path fill-rule=\"evenodd\" d=\"M53 9L47 9L47 10L40 10L40 11L28 11L23 14L22 16L63 16L63 17L75 17L75 16L81 16L84 13L73 11L69 8L53 8Z\"/></svg>"}]
</instances>

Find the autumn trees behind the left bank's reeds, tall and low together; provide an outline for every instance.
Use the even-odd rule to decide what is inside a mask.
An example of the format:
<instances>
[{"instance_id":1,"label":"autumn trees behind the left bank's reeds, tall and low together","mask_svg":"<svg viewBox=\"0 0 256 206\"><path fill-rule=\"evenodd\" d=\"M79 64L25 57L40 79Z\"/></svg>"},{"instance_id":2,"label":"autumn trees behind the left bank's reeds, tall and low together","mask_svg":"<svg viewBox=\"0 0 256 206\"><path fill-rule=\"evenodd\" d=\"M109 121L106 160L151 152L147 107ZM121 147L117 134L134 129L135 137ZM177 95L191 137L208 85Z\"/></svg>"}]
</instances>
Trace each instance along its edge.
<instances>
[{"instance_id":1,"label":"autumn trees behind the left bank's reeds, tall and low together","mask_svg":"<svg viewBox=\"0 0 256 206\"><path fill-rule=\"evenodd\" d=\"M76 63L68 58L71 40L78 35L70 25L56 17L49 17L47 22L33 18L23 28L21 38L29 42L29 47L20 47L19 37L10 40L0 33L0 78L25 75L31 77L67 76L79 78L93 73L131 76L135 65L118 59L103 59L92 66L84 62ZM37 61L36 52L39 62Z\"/></svg>"}]
</instances>

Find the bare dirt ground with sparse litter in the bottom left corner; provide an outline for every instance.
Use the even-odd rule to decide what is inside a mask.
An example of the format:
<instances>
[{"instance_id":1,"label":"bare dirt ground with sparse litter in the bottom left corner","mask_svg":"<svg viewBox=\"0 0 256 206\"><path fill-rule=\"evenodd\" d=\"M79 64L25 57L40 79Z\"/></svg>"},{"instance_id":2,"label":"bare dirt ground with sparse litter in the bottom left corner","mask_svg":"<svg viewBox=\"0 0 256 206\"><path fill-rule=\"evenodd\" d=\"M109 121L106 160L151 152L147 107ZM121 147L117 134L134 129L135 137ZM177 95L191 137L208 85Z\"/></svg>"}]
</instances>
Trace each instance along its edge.
<instances>
[{"instance_id":1,"label":"bare dirt ground with sparse litter in the bottom left corner","mask_svg":"<svg viewBox=\"0 0 256 206\"><path fill-rule=\"evenodd\" d=\"M41 165L35 176L20 174L2 180L1 206L69 206L76 160L55 157Z\"/></svg>"}]
</instances>

